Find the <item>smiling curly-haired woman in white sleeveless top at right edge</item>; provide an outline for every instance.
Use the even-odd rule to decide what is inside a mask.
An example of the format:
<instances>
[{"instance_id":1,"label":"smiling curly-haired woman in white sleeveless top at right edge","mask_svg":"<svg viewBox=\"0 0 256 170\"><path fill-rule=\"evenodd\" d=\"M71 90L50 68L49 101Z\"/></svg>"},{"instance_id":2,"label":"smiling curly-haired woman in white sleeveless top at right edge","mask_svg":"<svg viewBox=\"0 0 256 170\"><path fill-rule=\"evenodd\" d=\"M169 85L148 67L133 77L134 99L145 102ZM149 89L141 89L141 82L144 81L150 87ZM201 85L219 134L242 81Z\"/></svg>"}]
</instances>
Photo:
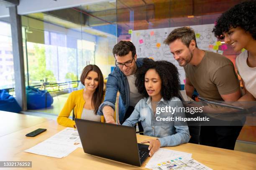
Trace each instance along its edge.
<instances>
[{"instance_id":1,"label":"smiling curly-haired woman in white sleeveless top at right edge","mask_svg":"<svg viewBox=\"0 0 256 170\"><path fill-rule=\"evenodd\" d=\"M236 57L245 89L238 101L256 100L256 0L242 2L223 13L212 32L234 51L246 49Z\"/></svg>"}]
</instances>

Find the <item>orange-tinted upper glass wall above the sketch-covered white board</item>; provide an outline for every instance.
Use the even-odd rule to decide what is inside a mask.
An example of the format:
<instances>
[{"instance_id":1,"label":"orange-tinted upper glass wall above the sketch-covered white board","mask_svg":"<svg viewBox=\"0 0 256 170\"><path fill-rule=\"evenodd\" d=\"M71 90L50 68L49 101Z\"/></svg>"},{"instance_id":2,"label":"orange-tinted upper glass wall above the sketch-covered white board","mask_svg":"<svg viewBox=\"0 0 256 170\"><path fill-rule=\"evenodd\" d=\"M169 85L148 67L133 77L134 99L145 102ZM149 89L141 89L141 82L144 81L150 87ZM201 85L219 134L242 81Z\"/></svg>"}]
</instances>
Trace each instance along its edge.
<instances>
[{"instance_id":1,"label":"orange-tinted upper glass wall above the sketch-covered white board","mask_svg":"<svg viewBox=\"0 0 256 170\"><path fill-rule=\"evenodd\" d=\"M118 41L129 30L214 24L221 13L243 0L117 0Z\"/></svg>"}]
</instances>

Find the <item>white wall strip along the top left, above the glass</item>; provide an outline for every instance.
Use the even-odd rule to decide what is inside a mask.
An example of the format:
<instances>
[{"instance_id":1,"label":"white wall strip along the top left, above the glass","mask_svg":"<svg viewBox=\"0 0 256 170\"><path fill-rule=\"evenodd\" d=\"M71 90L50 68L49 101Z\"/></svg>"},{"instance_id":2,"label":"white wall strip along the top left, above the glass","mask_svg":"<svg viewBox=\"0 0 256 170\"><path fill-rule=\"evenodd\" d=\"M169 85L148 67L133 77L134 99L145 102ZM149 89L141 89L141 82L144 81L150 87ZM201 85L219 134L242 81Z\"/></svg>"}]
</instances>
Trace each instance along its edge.
<instances>
[{"instance_id":1,"label":"white wall strip along the top left, above the glass","mask_svg":"<svg viewBox=\"0 0 256 170\"><path fill-rule=\"evenodd\" d=\"M106 0L20 0L18 14L26 15L30 13L40 13L104 1ZM9 10L6 9L5 6L0 5L0 18L8 16Z\"/></svg>"}]
</instances>

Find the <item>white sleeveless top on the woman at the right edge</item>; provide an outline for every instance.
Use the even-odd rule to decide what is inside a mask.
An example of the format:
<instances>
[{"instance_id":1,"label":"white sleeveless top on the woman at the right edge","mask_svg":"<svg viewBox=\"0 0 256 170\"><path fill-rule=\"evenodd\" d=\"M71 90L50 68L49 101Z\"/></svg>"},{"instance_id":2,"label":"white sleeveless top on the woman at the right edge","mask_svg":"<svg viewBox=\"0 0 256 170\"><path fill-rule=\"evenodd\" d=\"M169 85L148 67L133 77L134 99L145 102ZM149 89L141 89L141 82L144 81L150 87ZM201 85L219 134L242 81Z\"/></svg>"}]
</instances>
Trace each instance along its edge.
<instances>
[{"instance_id":1,"label":"white sleeveless top on the woman at the right edge","mask_svg":"<svg viewBox=\"0 0 256 170\"><path fill-rule=\"evenodd\" d=\"M236 67L244 81L246 90L256 98L256 67L247 65L248 51L245 50L236 57Z\"/></svg>"}]
</instances>

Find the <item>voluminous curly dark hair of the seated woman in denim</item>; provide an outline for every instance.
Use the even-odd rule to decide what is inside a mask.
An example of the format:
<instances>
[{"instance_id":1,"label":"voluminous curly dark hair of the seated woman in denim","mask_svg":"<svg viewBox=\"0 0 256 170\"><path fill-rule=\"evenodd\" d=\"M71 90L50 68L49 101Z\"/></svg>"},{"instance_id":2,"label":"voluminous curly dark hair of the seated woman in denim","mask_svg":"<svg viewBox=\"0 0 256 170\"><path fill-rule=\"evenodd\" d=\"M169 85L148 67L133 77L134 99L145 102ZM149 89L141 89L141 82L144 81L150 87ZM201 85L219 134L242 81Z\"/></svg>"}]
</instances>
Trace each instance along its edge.
<instances>
[{"instance_id":1,"label":"voluminous curly dark hair of the seated woman in denim","mask_svg":"<svg viewBox=\"0 0 256 170\"><path fill-rule=\"evenodd\" d=\"M154 61L148 58L143 59L143 65L138 68L135 77L135 85L143 97L148 97L145 87L145 75L149 69L155 69L161 78L161 96L164 100L170 100L178 96L179 72L177 67L168 61Z\"/></svg>"}]
</instances>

